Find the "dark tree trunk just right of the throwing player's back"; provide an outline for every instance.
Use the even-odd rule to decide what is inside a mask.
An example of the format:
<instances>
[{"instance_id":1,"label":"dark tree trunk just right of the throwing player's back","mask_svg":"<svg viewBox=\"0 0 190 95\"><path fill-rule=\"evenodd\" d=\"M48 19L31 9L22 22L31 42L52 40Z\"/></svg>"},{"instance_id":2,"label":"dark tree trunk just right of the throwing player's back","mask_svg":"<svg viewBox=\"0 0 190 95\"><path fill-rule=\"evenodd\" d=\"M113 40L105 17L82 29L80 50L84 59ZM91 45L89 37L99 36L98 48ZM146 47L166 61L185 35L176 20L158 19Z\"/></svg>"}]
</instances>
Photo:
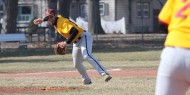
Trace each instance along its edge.
<instances>
[{"instance_id":1,"label":"dark tree trunk just right of the throwing player's back","mask_svg":"<svg viewBox=\"0 0 190 95\"><path fill-rule=\"evenodd\" d=\"M94 34L105 34L101 26L99 0L88 0L88 29Z\"/></svg>"}]
</instances>

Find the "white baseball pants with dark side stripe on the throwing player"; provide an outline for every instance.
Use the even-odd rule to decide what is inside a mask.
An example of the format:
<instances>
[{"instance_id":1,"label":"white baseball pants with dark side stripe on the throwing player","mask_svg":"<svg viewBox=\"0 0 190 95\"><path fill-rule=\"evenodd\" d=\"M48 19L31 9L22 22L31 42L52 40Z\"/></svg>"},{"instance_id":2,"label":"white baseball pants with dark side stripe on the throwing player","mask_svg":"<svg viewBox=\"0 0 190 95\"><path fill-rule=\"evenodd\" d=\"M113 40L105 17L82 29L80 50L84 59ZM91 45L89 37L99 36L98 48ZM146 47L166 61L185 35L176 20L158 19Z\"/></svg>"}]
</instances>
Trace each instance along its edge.
<instances>
[{"instance_id":1,"label":"white baseball pants with dark side stripe on the throwing player","mask_svg":"<svg viewBox=\"0 0 190 95\"><path fill-rule=\"evenodd\" d=\"M106 69L99 63L99 61L91 54L92 53L93 38L89 32L83 32L81 39L77 43L73 43L73 63L74 67L81 74L83 81L90 82L85 67L83 66L83 59L86 59L100 75L109 75Z\"/></svg>"}]
</instances>

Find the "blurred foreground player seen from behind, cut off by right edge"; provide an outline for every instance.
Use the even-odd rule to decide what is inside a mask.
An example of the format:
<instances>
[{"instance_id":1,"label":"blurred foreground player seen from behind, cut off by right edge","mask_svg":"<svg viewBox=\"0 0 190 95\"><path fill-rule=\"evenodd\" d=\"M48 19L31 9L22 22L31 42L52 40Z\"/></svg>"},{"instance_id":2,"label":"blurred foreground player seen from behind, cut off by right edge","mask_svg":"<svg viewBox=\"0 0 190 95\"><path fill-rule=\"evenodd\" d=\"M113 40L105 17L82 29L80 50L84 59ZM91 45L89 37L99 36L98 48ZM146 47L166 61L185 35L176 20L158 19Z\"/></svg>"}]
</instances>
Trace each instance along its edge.
<instances>
[{"instance_id":1,"label":"blurred foreground player seen from behind, cut off by right edge","mask_svg":"<svg viewBox=\"0 0 190 95\"><path fill-rule=\"evenodd\" d=\"M190 0L167 0L159 20L168 26L155 95L186 95L190 86Z\"/></svg>"}]
</instances>

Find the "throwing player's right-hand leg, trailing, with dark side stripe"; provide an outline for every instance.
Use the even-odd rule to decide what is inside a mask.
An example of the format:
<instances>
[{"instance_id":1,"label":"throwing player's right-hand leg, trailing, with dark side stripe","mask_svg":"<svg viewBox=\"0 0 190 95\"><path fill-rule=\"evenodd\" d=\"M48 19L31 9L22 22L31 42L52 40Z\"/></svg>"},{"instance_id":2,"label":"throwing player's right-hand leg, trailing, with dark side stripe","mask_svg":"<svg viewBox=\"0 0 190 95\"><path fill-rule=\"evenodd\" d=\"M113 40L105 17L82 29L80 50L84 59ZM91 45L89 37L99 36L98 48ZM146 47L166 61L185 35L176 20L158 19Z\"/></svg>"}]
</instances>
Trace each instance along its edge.
<instances>
[{"instance_id":1,"label":"throwing player's right-hand leg, trailing, with dark side stripe","mask_svg":"<svg viewBox=\"0 0 190 95\"><path fill-rule=\"evenodd\" d=\"M92 55L92 42L93 38L90 33L85 32L81 39L81 49L83 58L86 59L97 71L100 75L108 77L107 80L111 79L109 73L106 69L100 64L100 62Z\"/></svg>"}]
</instances>

